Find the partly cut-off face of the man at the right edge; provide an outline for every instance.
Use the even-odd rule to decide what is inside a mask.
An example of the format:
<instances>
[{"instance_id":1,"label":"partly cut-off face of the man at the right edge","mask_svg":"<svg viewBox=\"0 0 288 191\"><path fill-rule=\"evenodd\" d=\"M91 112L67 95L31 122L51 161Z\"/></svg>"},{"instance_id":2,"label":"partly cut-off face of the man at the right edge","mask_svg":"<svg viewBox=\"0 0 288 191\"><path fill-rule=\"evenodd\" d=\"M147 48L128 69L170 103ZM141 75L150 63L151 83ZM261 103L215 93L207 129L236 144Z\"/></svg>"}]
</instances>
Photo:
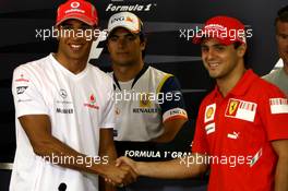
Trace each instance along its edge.
<instances>
[{"instance_id":1,"label":"partly cut-off face of the man at the right edge","mask_svg":"<svg viewBox=\"0 0 288 191\"><path fill-rule=\"evenodd\" d=\"M278 21L276 23L276 41L279 57L288 67L288 22Z\"/></svg>"}]
</instances>

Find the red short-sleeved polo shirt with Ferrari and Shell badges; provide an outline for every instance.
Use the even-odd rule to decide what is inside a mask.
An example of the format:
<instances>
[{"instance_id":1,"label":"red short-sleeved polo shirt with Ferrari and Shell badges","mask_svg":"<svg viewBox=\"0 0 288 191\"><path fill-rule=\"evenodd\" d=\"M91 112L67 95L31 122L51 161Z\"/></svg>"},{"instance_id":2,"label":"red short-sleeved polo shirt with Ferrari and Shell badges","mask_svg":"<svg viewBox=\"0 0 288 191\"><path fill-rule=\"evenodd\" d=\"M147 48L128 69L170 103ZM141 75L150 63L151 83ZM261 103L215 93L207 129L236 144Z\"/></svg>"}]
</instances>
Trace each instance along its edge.
<instances>
[{"instance_id":1,"label":"red short-sleeved polo shirt with Ferrari and Shell badges","mask_svg":"<svg viewBox=\"0 0 288 191\"><path fill-rule=\"evenodd\" d=\"M226 97L216 86L204 98L192 152L209 156L209 191L273 191L271 141L281 139L288 139L287 98L248 70Z\"/></svg>"}]
</instances>

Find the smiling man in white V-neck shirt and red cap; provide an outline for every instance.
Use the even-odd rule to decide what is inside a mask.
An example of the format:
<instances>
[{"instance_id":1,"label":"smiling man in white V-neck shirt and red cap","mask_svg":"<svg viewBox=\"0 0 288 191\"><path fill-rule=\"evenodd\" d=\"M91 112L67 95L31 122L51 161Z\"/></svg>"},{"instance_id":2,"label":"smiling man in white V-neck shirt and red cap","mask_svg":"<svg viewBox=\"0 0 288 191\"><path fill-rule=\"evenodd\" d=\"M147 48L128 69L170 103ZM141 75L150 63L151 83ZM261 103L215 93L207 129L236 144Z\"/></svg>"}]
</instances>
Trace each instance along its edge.
<instances>
[{"instance_id":1,"label":"smiling man in white V-neck shirt and red cap","mask_svg":"<svg viewBox=\"0 0 288 191\"><path fill-rule=\"evenodd\" d=\"M14 70L16 153L11 191L97 191L98 175L118 186L136 178L130 167L112 163L117 157L112 81L87 63L93 40L84 32L97 24L93 4L67 1L57 12L58 51Z\"/></svg>"}]
</instances>

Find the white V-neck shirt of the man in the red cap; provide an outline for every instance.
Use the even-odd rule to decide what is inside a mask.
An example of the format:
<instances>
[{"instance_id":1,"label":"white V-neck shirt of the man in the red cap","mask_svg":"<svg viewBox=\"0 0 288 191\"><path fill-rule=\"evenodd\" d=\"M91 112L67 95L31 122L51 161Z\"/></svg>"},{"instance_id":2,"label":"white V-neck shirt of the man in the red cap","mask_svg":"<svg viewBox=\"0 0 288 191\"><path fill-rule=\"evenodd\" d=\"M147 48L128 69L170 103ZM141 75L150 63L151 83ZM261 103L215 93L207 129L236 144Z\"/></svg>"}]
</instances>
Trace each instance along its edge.
<instances>
[{"instance_id":1,"label":"white V-neck shirt of the man in the red cap","mask_svg":"<svg viewBox=\"0 0 288 191\"><path fill-rule=\"evenodd\" d=\"M81 73L73 74L52 53L16 68L12 84L16 154L10 190L58 191L63 182L67 191L97 191L97 176L63 168L37 156L17 118L47 115L53 136L80 153L96 157L99 129L115 127L112 92L111 79L98 68L88 63ZM64 156L58 159L63 160ZM74 158L74 162L84 159Z\"/></svg>"}]
</instances>

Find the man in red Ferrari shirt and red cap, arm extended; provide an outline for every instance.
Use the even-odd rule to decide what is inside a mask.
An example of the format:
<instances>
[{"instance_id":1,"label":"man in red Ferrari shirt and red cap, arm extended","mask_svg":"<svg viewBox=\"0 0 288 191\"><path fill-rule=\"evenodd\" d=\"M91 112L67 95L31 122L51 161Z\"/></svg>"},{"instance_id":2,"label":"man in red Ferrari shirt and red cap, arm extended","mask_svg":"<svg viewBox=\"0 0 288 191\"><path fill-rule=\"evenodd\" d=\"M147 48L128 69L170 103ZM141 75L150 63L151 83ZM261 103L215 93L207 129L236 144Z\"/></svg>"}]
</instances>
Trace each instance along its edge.
<instances>
[{"instance_id":1,"label":"man in red Ferrari shirt and red cap, arm extended","mask_svg":"<svg viewBox=\"0 0 288 191\"><path fill-rule=\"evenodd\" d=\"M160 163L121 157L118 165L173 179L209 167L209 191L287 191L288 102L278 87L245 69L247 36L240 21L215 16L193 38L216 87L201 104L192 155Z\"/></svg>"}]
</instances>

